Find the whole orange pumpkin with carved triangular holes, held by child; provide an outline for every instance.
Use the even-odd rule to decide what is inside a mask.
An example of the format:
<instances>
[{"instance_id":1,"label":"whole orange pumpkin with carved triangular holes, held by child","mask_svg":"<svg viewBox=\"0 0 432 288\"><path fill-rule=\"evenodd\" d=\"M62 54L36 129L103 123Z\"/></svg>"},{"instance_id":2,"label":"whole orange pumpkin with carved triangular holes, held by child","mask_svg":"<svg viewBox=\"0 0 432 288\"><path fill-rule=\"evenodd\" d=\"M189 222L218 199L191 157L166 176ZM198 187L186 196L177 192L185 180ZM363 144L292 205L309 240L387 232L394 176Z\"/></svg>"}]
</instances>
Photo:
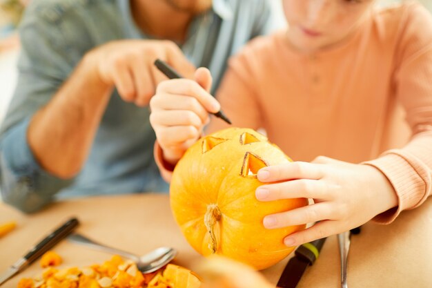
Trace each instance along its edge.
<instances>
[{"instance_id":1,"label":"whole orange pumpkin with carved triangular holes, held by child","mask_svg":"<svg viewBox=\"0 0 432 288\"><path fill-rule=\"evenodd\" d=\"M265 269L288 256L288 234L304 225L265 229L265 215L307 204L289 199L259 202L257 171L290 162L264 135L228 128L203 137L178 162L170 185L170 203L189 244L204 256L219 254Z\"/></svg>"}]
</instances>

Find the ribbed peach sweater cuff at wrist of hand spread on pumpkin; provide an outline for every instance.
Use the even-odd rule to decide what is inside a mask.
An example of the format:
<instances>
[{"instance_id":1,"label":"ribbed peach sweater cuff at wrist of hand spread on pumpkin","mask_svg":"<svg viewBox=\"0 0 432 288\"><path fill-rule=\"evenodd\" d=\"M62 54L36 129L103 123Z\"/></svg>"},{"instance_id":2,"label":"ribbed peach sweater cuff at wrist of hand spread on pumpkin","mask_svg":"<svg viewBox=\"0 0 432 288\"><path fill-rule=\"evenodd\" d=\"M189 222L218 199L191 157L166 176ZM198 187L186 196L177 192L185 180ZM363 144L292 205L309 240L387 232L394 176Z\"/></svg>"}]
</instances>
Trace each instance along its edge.
<instances>
[{"instance_id":1,"label":"ribbed peach sweater cuff at wrist of hand spread on pumpkin","mask_svg":"<svg viewBox=\"0 0 432 288\"><path fill-rule=\"evenodd\" d=\"M400 212L418 207L426 200L431 189L431 175L426 166L412 155L389 151L382 157L362 164L374 166L390 181L397 194L398 206L373 218L380 224L389 224Z\"/></svg>"}]
</instances>

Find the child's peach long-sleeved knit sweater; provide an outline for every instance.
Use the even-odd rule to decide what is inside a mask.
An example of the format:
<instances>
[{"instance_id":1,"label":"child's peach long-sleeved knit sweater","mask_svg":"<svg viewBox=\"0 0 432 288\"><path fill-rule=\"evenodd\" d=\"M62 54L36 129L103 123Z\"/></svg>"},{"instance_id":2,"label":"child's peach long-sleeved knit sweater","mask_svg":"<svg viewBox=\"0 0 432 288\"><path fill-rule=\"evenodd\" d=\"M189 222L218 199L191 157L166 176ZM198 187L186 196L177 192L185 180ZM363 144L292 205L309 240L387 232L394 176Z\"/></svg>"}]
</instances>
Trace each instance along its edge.
<instances>
[{"instance_id":1,"label":"child's peach long-sleeved knit sweater","mask_svg":"<svg viewBox=\"0 0 432 288\"><path fill-rule=\"evenodd\" d=\"M432 17L418 3L373 10L349 39L306 55L285 32L230 60L217 99L234 126L264 128L293 160L318 155L380 169L399 205L389 223L431 194ZM226 128L213 119L207 133ZM166 179L170 171L155 157Z\"/></svg>"}]
</instances>

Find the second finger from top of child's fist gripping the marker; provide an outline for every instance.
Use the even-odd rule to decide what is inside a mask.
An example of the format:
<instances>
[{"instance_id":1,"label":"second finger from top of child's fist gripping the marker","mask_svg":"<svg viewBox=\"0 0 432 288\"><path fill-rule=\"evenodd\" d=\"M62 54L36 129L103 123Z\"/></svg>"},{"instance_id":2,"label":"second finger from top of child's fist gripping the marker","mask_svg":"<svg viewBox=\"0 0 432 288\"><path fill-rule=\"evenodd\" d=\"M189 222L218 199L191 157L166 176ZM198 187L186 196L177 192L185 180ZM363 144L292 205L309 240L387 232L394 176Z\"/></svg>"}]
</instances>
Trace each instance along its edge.
<instances>
[{"instance_id":1,"label":"second finger from top of child's fist gripping the marker","mask_svg":"<svg viewBox=\"0 0 432 288\"><path fill-rule=\"evenodd\" d=\"M184 95L155 95L155 97L150 100L150 108L153 113L158 113L158 111L161 110L192 111L201 118L203 123L206 123L209 119L208 112L199 104L197 99Z\"/></svg>"}]
</instances>

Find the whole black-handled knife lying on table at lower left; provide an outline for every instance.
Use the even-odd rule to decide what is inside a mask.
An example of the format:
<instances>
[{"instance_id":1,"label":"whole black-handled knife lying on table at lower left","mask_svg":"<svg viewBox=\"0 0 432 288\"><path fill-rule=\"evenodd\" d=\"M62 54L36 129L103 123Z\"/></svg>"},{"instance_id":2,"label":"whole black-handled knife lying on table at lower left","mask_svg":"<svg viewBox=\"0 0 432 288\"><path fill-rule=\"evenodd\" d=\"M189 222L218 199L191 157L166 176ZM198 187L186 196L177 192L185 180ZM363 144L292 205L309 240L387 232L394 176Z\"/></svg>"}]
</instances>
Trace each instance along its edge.
<instances>
[{"instance_id":1,"label":"whole black-handled knife lying on table at lower left","mask_svg":"<svg viewBox=\"0 0 432 288\"><path fill-rule=\"evenodd\" d=\"M75 227L78 226L78 224L79 221L77 218L70 218L68 221L62 224L61 227L50 233L50 235L46 236L46 238L43 238L43 240L32 247L32 249L30 249L30 251L28 251L25 256L15 262L11 267L8 268L8 270L0 274L0 286L12 278L15 274L19 273L23 269L26 269L28 265L42 256L43 253L54 247L54 245L60 240L68 236L68 234L72 232Z\"/></svg>"}]
</instances>

